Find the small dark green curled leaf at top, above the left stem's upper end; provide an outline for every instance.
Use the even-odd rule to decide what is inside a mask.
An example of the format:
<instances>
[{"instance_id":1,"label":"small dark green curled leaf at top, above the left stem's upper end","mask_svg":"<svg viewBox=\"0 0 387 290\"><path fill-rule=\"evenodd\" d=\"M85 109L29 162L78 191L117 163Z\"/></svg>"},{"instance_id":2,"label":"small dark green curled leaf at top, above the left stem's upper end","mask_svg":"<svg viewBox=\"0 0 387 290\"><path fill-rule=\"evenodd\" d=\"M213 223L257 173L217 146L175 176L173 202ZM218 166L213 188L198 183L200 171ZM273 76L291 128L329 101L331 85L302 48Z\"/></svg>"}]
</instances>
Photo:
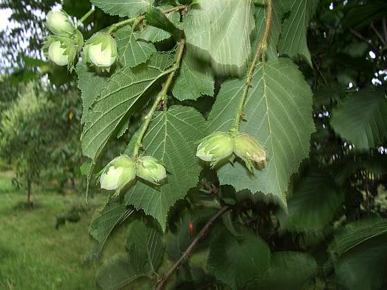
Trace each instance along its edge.
<instances>
[{"instance_id":1,"label":"small dark green curled leaf at top, above the left stem's upper end","mask_svg":"<svg viewBox=\"0 0 387 290\"><path fill-rule=\"evenodd\" d=\"M148 25L171 33L175 40L182 37L182 30L177 28L175 24L164 14L164 12L158 8L149 6L147 14L145 14L145 19L147 20Z\"/></svg>"}]
</instances>

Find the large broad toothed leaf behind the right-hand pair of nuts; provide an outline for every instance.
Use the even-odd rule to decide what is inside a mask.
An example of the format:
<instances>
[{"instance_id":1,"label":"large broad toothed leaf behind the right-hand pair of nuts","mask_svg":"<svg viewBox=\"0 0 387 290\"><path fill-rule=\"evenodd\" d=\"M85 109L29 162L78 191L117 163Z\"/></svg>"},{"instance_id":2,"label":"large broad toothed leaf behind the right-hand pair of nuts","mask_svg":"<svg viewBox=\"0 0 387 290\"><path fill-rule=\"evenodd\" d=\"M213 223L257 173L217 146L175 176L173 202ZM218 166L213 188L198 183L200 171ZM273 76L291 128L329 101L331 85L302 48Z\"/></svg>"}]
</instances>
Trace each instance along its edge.
<instances>
[{"instance_id":1,"label":"large broad toothed leaf behind the right-hand pair of nuts","mask_svg":"<svg viewBox=\"0 0 387 290\"><path fill-rule=\"evenodd\" d=\"M220 88L209 114L207 133L227 131L233 124L243 93L244 79L227 81ZM266 198L286 206L287 183L301 160L308 157L312 119L312 91L290 59L256 66L245 102L240 131L263 143L267 166L250 174L239 161L218 170L220 184L236 191L261 191Z\"/></svg>"}]
</instances>

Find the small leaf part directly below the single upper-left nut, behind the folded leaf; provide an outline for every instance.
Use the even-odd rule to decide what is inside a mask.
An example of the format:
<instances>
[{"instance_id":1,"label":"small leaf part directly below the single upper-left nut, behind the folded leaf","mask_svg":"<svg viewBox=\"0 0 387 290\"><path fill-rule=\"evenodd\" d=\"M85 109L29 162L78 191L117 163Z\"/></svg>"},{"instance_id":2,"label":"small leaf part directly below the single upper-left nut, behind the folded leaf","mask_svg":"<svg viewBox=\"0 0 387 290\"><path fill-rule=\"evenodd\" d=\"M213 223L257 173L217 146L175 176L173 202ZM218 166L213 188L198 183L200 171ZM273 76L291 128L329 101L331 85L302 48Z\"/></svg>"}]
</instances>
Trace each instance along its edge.
<instances>
[{"instance_id":1,"label":"small leaf part directly below the single upper-left nut, behind the folded leaf","mask_svg":"<svg viewBox=\"0 0 387 290\"><path fill-rule=\"evenodd\" d=\"M75 71L78 75L78 88L82 92L82 104L84 108L82 121L84 121L84 114L93 105L98 95L100 95L107 78L97 75L93 71L93 68L90 68L84 61L78 61Z\"/></svg>"}]
</instances>

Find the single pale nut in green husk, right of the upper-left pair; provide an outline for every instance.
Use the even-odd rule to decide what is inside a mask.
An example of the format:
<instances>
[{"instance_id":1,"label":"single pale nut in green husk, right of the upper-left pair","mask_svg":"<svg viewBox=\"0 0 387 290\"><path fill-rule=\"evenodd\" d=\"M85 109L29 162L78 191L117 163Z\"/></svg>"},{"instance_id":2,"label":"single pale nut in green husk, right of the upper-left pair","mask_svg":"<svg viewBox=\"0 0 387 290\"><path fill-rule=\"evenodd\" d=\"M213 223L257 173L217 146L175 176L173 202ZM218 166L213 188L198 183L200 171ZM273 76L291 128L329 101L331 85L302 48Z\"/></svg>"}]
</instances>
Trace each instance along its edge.
<instances>
[{"instance_id":1,"label":"single pale nut in green husk, right of the upper-left pair","mask_svg":"<svg viewBox=\"0 0 387 290\"><path fill-rule=\"evenodd\" d=\"M84 57L92 65L109 70L117 59L117 43L106 32L97 32L86 41Z\"/></svg>"}]
</instances>

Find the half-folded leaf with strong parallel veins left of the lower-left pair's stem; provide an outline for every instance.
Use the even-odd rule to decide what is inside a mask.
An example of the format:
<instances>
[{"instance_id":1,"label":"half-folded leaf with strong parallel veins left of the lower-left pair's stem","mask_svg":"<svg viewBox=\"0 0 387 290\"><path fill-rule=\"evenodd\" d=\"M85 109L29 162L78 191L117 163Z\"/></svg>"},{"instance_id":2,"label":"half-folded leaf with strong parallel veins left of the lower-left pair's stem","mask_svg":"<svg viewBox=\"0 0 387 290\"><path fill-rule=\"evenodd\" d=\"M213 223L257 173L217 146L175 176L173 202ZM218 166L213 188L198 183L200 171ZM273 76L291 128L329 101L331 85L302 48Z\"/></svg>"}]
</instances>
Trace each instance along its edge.
<instances>
[{"instance_id":1,"label":"half-folded leaf with strong parallel veins left of the lower-left pair's stem","mask_svg":"<svg viewBox=\"0 0 387 290\"><path fill-rule=\"evenodd\" d=\"M122 68L106 81L94 105L84 116L84 155L95 160L125 116L133 114L138 105L136 103L141 103L144 98L147 100L147 90L158 79L167 75L170 65L169 53L156 53L147 64L136 68Z\"/></svg>"}]
</instances>

